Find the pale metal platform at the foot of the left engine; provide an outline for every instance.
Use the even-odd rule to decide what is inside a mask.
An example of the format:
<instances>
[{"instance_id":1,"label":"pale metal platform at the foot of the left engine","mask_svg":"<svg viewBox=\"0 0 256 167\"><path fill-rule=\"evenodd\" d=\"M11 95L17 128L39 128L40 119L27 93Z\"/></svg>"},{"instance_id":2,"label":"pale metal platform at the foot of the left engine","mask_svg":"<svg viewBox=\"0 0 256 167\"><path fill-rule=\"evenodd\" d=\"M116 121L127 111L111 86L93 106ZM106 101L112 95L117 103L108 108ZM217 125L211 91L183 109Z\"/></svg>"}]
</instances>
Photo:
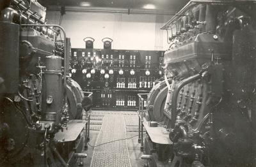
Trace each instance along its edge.
<instances>
[{"instance_id":1,"label":"pale metal platform at the foot of the left engine","mask_svg":"<svg viewBox=\"0 0 256 167\"><path fill-rule=\"evenodd\" d=\"M81 119L69 120L67 123L67 129L64 129L63 132L59 131L56 133L54 139L63 142L74 141L77 139L81 131L83 131L86 123L86 120Z\"/></svg>"}]
</instances>

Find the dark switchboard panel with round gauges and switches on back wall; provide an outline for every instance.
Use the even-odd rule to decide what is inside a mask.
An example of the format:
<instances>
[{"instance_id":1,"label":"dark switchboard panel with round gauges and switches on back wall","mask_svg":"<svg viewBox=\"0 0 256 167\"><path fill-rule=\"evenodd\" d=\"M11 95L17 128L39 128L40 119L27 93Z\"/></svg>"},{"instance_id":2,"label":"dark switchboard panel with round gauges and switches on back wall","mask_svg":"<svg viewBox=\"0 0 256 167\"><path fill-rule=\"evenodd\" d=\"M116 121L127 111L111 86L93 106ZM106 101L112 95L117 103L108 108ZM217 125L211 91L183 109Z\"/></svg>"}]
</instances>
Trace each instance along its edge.
<instances>
[{"instance_id":1,"label":"dark switchboard panel with round gauges and switches on back wall","mask_svg":"<svg viewBox=\"0 0 256 167\"><path fill-rule=\"evenodd\" d=\"M70 76L83 91L93 92L99 109L138 108L138 93L147 93L163 76L163 51L72 48Z\"/></svg>"}]
</instances>

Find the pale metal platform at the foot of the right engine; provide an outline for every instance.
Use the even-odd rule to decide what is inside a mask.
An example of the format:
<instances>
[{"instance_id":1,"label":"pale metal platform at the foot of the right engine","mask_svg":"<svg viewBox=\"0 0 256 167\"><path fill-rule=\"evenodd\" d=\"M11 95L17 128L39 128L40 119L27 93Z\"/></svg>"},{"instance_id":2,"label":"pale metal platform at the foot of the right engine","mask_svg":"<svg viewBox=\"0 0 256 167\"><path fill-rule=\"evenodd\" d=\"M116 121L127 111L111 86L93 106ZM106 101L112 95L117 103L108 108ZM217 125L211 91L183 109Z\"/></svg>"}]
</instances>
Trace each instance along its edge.
<instances>
[{"instance_id":1,"label":"pale metal platform at the foot of the right engine","mask_svg":"<svg viewBox=\"0 0 256 167\"><path fill-rule=\"evenodd\" d=\"M143 126L145 127L148 136L154 143L159 144L172 144L172 141L169 138L169 132L166 131L164 127L150 127L148 126L148 121L144 118L143 119Z\"/></svg>"}]
</instances>

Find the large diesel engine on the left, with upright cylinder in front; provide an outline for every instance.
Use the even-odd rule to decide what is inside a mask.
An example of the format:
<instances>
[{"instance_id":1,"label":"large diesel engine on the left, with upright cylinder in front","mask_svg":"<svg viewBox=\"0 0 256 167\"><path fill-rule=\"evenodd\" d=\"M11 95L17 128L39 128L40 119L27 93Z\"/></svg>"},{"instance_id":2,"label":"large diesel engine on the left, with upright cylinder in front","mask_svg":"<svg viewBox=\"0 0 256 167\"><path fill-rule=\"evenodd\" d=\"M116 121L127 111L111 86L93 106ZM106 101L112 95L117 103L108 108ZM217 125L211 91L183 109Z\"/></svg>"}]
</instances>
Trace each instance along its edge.
<instances>
[{"instance_id":1,"label":"large diesel engine on the left, with upright cylinder in front","mask_svg":"<svg viewBox=\"0 0 256 167\"><path fill-rule=\"evenodd\" d=\"M0 5L0 166L73 166L87 131L70 40L37 1Z\"/></svg>"}]
</instances>

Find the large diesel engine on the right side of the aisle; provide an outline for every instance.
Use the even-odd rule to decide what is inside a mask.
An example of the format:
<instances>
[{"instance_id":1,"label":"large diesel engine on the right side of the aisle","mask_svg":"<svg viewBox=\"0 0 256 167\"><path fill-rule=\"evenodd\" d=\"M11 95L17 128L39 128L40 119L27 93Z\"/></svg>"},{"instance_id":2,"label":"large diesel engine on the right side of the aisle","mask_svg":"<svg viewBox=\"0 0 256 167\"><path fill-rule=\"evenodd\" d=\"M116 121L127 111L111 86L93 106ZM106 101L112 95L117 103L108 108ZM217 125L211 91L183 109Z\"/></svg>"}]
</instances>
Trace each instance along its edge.
<instances>
[{"instance_id":1,"label":"large diesel engine on the right side of the aisle","mask_svg":"<svg viewBox=\"0 0 256 167\"><path fill-rule=\"evenodd\" d=\"M190 1L163 26L165 78L140 108L148 166L255 166L255 5Z\"/></svg>"}]
</instances>

